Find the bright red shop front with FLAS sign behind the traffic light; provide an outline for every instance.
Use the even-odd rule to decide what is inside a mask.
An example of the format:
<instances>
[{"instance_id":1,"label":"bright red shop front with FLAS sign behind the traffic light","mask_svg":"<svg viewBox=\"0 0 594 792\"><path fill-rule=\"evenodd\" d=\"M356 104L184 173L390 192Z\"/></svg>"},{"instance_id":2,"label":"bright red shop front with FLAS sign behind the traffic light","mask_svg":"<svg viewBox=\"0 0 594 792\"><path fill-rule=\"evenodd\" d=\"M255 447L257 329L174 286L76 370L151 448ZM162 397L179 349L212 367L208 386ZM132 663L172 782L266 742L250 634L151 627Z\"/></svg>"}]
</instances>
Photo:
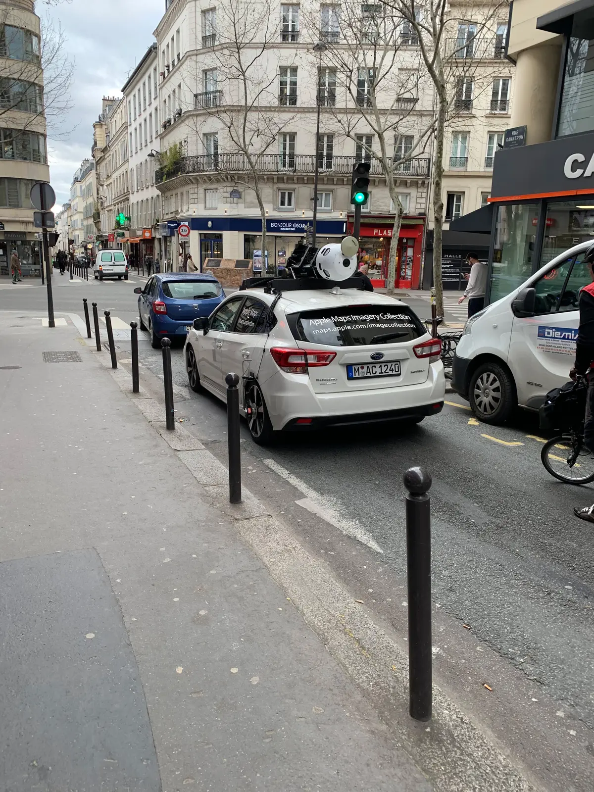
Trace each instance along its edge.
<instances>
[{"instance_id":1,"label":"bright red shop front with FLAS sign behind the traffic light","mask_svg":"<svg viewBox=\"0 0 594 792\"><path fill-rule=\"evenodd\" d=\"M421 280L421 251L423 246L424 218L403 218L398 234L396 253L396 279L399 289L417 289ZM362 217L360 229L359 260L369 266L369 277L374 286L385 286L394 216ZM348 231L352 233L352 216L348 218Z\"/></svg>"}]
</instances>

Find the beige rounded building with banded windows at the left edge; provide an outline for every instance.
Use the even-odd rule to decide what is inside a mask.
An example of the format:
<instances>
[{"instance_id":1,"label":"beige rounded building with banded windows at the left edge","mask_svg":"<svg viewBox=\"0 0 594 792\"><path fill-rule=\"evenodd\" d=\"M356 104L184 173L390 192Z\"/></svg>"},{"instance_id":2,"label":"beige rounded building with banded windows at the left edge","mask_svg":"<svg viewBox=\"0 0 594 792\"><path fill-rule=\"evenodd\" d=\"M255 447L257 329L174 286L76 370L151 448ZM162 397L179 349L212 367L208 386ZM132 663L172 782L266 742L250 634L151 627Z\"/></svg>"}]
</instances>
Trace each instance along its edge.
<instances>
[{"instance_id":1,"label":"beige rounded building with banded windows at the left edge","mask_svg":"<svg viewBox=\"0 0 594 792\"><path fill-rule=\"evenodd\" d=\"M49 181L40 62L40 19L32 0L0 0L0 275L17 251L23 275L39 275L41 251L29 191Z\"/></svg>"}]
</instances>

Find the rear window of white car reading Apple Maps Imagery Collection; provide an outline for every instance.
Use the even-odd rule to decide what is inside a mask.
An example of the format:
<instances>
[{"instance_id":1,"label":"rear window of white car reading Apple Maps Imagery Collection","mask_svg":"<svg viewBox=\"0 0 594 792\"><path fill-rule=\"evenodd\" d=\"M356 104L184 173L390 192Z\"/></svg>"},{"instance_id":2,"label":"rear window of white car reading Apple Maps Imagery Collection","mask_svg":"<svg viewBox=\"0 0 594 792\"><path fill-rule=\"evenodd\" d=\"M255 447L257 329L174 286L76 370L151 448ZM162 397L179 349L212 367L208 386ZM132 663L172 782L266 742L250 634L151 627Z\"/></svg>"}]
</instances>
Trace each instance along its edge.
<instances>
[{"instance_id":1,"label":"rear window of white car reading Apple Maps Imagery Collection","mask_svg":"<svg viewBox=\"0 0 594 792\"><path fill-rule=\"evenodd\" d=\"M308 310L290 322L299 341L328 346L402 344L427 330L408 306L351 306Z\"/></svg>"}]
</instances>

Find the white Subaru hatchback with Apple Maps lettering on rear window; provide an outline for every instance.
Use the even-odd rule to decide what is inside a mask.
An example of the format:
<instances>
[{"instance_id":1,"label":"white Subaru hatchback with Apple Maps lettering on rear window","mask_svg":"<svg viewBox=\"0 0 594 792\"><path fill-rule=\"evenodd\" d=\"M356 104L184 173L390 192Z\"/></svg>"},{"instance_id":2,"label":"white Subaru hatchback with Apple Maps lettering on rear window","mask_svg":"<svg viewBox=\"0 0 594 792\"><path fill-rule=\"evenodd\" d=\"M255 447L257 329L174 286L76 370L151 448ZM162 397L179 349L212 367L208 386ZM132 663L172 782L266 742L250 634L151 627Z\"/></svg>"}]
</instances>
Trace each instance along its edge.
<instances>
[{"instance_id":1,"label":"white Subaru hatchback with Apple Maps lettering on rear window","mask_svg":"<svg viewBox=\"0 0 594 792\"><path fill-rule=\"evenodd\" d=\"M276 295L249 287L196 319L185 342L192 390L225 401L225 376L236 372L240 410L261 445L281 430L418 423L439 413L441 341L413 310L387 295L337 294L312 281Z\"/></svg>"}]
</instances>

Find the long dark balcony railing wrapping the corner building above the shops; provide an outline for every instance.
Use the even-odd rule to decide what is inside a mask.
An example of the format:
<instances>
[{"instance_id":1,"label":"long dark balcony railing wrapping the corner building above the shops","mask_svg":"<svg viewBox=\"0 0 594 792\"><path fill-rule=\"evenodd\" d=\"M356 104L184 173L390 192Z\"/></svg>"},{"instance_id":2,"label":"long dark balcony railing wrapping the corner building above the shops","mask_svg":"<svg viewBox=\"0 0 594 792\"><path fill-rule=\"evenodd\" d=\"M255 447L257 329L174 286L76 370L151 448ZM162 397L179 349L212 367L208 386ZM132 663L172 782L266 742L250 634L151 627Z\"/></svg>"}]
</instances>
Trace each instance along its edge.
<instances>
[{"instance_id":1,"label":"long dark balcony railing wrapping the corner building above the shops","mask_svg":"<svg viewBox=\"0 0 594 792\"><path fill-rule=\"evenodd\" d=\"M311 174L315 172L314 154L261 154L254 157L257 173L299 173ZM352 175L355 157L332 156L325 158L325 173L336 176ZM463 158L466 163L466 158ZM248 160L244 154L200 154L195 157L182 157L169 169L160 168L155 174L157 184L168 181L177 176L192 176L200 173L249 173ZM403 162L394 169L397 175L424 178L429 174L428 158L415 157L409 162ZM371 161L371 175L382 176L381 162Z\"/></svg>"}]
</instances>

